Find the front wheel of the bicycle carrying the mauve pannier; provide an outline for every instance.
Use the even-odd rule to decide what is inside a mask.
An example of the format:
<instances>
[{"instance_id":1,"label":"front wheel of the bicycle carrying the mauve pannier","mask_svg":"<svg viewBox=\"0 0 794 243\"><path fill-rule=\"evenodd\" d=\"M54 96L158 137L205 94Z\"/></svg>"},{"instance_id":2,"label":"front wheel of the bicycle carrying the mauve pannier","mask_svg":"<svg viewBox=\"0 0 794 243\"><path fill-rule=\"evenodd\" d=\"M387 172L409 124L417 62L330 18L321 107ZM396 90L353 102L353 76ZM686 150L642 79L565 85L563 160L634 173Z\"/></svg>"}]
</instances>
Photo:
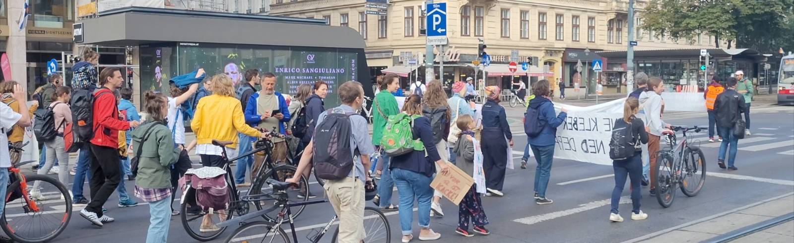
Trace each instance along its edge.
<instances>
[{"instance_id":1,"label":"front wheel of the bicycle carrying the mauve pannier","mask_svg":"<svg viewBox=\"0 0 794 243\"><path fill-rule=\"evenodd\" d=\"M256 181L254 181L254 184L251 186L251 191L249 191L249 195L271 194L273 193L273 188L269 185L266 185L264 183L265 180L272 178L283 182L292 178L292 175L295 175L295 166L287 164L276 166L276 168L264 172L261 178L257 178ZM287 189L289 202L305 202L309 200L308 189L309 181L306 180L306 178L301 177L301 182L299 183L298 187ZM256 206L256 210L263 210L267 207L275 205L276 200L254 201L253 204ZM298 218L298 215L303 213L304 208L306 208L306 205L291 206L290 209L292 218ZM274 210L268 214L264 214L263 216L264 218L268 219L268 221L275 222L276 218L278 218L279 212L281 212L281 210ZM286 222L287 220L289 220L289 218L284 218L283 222Z\"/></svg>"}]
</instances>

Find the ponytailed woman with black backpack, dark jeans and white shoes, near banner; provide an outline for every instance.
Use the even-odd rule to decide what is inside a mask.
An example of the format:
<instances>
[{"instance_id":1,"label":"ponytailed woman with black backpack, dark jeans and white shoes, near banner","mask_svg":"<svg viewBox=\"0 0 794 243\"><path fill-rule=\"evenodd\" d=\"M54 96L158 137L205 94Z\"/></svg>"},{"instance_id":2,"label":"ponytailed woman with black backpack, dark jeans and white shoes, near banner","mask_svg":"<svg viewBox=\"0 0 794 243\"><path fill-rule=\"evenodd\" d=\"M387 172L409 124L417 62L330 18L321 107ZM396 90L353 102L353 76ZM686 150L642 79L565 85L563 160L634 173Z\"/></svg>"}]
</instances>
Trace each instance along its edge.
<instances>
[{"instance_id":1,"label":"ponytailed woman with black backpack, dark jeans and white shoes, near banner","mask_svg":"<svg viewBox=\"0 0 794 243\"><path fill-rule=\"evenodd\" d=\"M623 222L618 206L620 205L620 195L623 193L623 186L626 185L626 175L631 179L631 219L642 220L648 218L648 214L640 210L640 184L642 181L642 147L641 144L648 143L648 132L645 124L636 117L639 112L639 101L637 98L630 97L623 103L623 118L615 121L613 134L630 135L626 137L612 136L610 145L617 145L611 149L627 149L630 157L625 159L613 160L612 168L615 170L615 188L612 189L612 206L609 220L612 222ZM618 132L622 131L622 132Z\"/></svg>"}]
</instances>

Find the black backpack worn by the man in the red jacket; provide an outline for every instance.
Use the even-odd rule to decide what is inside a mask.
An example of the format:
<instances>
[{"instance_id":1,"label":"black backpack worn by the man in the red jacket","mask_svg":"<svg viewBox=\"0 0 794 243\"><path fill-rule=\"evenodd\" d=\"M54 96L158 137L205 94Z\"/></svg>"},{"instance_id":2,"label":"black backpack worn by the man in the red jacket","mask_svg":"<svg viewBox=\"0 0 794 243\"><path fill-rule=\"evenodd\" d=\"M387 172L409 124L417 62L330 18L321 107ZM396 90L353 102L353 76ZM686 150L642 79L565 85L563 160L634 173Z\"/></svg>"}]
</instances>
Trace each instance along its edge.
<instances>
[{"instance_id":1,"label":"black backpack worn by the man in the red jacket","mask_svg":"<svg viewBox=\"0 0 794 243\"><path fill-rule=\"evenodd\" d=\"M98 95L113 95L108 89L96 91ZM71 108L72 144L67 152L77 152L83 143L91 141L94 137L94 93L88 90L75 90L71 92L69 106Z\"/></svg>"}]
</instances>

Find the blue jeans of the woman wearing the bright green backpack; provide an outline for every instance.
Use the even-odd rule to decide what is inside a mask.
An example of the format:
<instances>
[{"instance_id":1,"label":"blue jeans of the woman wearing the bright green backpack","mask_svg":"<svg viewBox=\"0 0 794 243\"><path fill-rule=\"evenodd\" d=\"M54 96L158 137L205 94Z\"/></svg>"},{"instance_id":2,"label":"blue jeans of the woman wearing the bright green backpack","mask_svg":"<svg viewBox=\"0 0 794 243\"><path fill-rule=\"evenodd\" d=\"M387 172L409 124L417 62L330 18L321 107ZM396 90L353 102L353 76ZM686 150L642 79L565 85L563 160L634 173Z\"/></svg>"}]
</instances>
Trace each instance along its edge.
<instances>
[{"instance_id":1,"label":"blue jeans of the woman wearing the bright green backpack","mask_svg":"<svg viewBox=\"0 0 794 243\"><path fill-rule=\"evenodd\" d=\"M430 176L399 168L391 170L391 177L397 185L399 194L399 225L403 235L410 235L410 223L414 222L414 197L418 203L419 227L430 229L430 201L433 199L433 188L430 187ZM383 201L383 200L381 200Z\"/></svg>"}]
</instances>

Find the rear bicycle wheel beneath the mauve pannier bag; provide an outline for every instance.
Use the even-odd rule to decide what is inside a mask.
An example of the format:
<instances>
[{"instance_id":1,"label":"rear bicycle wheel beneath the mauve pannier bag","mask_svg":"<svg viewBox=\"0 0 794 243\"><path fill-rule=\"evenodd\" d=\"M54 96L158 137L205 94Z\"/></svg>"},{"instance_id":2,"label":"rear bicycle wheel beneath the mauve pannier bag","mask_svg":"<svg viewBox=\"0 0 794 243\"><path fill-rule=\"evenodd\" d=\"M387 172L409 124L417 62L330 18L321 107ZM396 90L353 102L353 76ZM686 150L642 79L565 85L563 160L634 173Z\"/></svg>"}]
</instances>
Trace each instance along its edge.
<instances>
[{"instance_id":1,"label":"rear bicycle wheel beneath the mauve pannier bag","mask_svg":"<svg viewBox=\"0 0 794 243\"><path fill-rule=\"evenodd\" d=\"M232 194L232 187L228 188L229 198L231 198L229 202L237 201L237 199L234 199L234 195ZM186 199L186 201L195 202L195 189L189 187L187 190L186 197L192 197L192 200ZM215 224L218 222L231 219L234 212L236 211L230 208L229 210L215 210L213 214L208 214L208 212L205 210L201 210L200 207L195 206L197 208L194 208L190 204L191 203L183 202L179 207L179 219L182 221L182 226L185 228L185 231L187 231L187 234L197 241L212 241L220 236L224 230L226 230L226 227L218 227L218 230L205 230L205 232L202 232L201 226L205 221L205 218L211 226L215 226Z\"/></svg>"}]
</instances>

